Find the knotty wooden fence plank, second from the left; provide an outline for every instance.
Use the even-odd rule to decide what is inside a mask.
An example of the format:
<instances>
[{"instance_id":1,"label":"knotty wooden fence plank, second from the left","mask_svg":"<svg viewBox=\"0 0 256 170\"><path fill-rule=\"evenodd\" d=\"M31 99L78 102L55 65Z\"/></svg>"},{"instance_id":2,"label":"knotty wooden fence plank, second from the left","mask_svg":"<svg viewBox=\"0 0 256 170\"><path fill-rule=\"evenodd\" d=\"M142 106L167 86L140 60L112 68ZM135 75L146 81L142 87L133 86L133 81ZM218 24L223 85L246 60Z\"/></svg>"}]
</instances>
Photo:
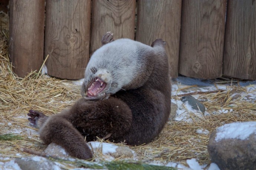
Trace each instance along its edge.
<instances>
[{"instance_id":1,"label":"knotty wooden fence plank, second from the left","mask_svg":"<svg viewBox=\"0 0 256 170\"><path fill-rule=\"evenodd\" d=\"M47 73L65 79L84 77L89 61L91 0L47 0Z\"/></svg>"}]
</instances>

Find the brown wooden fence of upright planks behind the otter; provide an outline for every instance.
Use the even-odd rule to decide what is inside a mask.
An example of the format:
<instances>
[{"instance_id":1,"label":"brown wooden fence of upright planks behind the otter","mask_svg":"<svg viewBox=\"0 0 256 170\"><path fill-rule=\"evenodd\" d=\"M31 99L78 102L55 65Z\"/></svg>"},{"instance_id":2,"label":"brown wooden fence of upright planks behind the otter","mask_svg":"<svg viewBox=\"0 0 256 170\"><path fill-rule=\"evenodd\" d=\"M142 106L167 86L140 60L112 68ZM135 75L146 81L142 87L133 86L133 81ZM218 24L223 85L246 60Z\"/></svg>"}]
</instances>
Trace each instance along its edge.
<instances>
[{"instance_id":1,"label":"brown wooden fence of upright planks behind the otter","mask_svg":"<svg viewBox=\"0 0 256 170\"><path fill-rule=\"evenodd\" d=\"M49 54L49 75L83 78L107 31L164 39L174 78L256 79L255 0L10 0L9 52L21 77Z\"/></svg>"}]
</instances>

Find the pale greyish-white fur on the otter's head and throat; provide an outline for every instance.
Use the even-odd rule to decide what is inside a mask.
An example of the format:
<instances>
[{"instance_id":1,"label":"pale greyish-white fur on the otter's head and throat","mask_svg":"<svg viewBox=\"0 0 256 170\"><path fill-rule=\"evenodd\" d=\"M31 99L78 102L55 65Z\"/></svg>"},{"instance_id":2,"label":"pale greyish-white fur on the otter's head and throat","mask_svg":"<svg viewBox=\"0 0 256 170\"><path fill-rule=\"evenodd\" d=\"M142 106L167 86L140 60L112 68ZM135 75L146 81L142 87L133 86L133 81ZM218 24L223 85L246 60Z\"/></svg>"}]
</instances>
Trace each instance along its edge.
<instances>
[{"instance_id":1,"label":"pale greyish-white fur on the otter's head and throat","mask_svg":"<svg viewBox=\"0 0 256 170\"><path fill-rule=\"evenodd\" d=\"M138 48L152 51L152 47L130 39L118 39L103 45L94 52L86 67L84 84L89 84L95 77L109 85L118 82L117 88L107 87L106 92L111 94L129 85L135 78L136 69L143 67ZM98 70L95 75L90 70L92 67Z\"/></svg>"}]
</instances>

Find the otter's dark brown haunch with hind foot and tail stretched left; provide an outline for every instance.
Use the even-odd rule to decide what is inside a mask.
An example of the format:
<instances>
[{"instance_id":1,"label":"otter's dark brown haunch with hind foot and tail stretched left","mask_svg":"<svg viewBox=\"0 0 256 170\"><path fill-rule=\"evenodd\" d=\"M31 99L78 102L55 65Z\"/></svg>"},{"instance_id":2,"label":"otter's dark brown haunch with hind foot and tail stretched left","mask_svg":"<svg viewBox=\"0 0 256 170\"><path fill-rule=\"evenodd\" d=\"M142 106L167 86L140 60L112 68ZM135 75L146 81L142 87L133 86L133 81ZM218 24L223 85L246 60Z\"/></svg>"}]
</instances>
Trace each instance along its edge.
<instances>
[{"instance_id":1,"label":"otter's dark brown haunch with hind foot and tail stretched left","mask_svg":"<svg viewBox=\"0 0 256 170\"><path fill-rule=\"evenodd\" d=\"M44 118L42 114L37 114L37 122ZM81 98L72 108L47 118L39 133L47 145L53 142L62 146L70 156L91 159L92 152L83 136L86 140L96 139L97 136L120 139L131 127L131 122L131 110L119 99L88 101Z\"/></svg>"}]
</instances>

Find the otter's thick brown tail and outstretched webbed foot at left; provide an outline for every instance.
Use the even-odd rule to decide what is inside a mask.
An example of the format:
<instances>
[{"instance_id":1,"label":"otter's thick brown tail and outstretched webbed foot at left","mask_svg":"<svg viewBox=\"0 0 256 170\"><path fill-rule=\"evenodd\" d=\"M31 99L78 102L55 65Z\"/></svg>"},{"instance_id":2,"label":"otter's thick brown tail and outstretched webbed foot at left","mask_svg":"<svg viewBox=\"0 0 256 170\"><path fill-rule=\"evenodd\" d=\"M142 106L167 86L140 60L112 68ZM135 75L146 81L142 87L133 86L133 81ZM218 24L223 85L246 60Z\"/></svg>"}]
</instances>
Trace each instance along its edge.
<instances>
[{"instance_id":1,"label":"otter's thick brown tail and outstretched webbed foot at left","mask_svg":"<svg viewBox=\"0 0 256 170\"><path fill-rule=\"evenodd\" d=\"M75 129L66 118L69 110L52 116L46 116L42 112L29 110L27 114L30 125L40 128L40 139L47 145L56 143L62 146L70 156L79 159L91 159L92 152L84 141L83 136Z\"/></svg>"}]
</instances>

